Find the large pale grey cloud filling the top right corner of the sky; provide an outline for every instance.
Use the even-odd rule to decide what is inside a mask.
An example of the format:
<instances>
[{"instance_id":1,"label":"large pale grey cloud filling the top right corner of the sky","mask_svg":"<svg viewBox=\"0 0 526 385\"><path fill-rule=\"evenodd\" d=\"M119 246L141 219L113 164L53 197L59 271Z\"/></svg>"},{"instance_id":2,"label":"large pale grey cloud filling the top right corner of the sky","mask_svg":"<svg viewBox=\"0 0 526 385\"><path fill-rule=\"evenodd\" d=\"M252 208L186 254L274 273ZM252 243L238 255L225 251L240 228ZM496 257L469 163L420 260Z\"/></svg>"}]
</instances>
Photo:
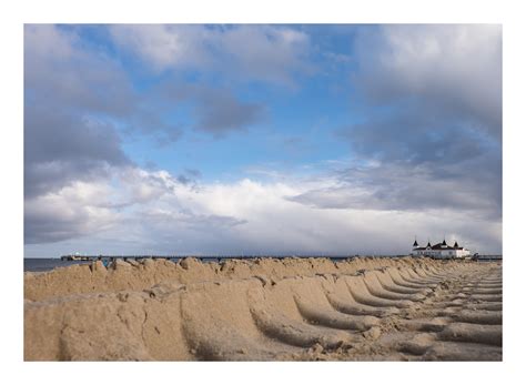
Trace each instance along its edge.
<instances>
[{"instance_id":1,"label":"large pale grey cloud filling the top right corner of the sky","mask_svg":"<svg viewBox=\"0 0 526 385\"><path fill-rule=\"evenodd\" d=\"M390 105L416 100L421 107L476 121L482 130L500 138L500 26L363 28L355 49L353 83L370 102Z\"/></svg>"}]
</instances>

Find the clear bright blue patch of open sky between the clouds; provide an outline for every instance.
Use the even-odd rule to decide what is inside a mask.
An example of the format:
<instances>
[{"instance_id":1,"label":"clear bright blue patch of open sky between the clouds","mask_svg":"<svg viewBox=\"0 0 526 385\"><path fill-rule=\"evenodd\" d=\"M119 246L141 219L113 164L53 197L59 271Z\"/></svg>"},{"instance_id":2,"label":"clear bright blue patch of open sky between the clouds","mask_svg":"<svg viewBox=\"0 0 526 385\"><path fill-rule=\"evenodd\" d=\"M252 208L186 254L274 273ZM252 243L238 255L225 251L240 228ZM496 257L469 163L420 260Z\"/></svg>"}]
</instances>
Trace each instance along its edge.
<instances>
[{"instance_id":1,"label":"clear bright blue patch of open sky between the clouds","mask_svg":"<svg viewBox=\"0 0 526 385\"><path fill-rule=\"evenodd\" d=\"M308 30L307 27L295 29ZM361 119L357 111L350 109L352 83L342 85L342 79L348 78L352 67L348 57L341 59L347 60L343 63L334 63L326 59L323 52L312 52L308 59L312 61L310 65L313 73L296 74L292 69L290 79L283 84L260 79L233 80L218 75L213 70L201 72L185 69L174 74L168 69L151 74L144 69L143 62L130 58L128 52L119 51L108 37L101 38L103 32L100 30L101 28L95 28L93 31L90 28L87 31L81 30L80 33L85 36L89 44L103 47L119 61L139 92L161 88L162 83L179 78L178 82L185 85L227 89L240 101L257 103L262 108L261 119L246 124L240 123L232 129L239 130L241 134L219 132L216 136L213 132L210 134L191 129L196 119L189 111L192 109L191 102L181 108L172 107L165 113L166 123L181 126L181 138L171 145L159 145L151 135L127 138L123 149L131 159L144 165L153 162L172 173L198 169L202 179L211 182L223 178L239 178L247 168L264 166L267 163L280 168L304 164L314 166L327 159L348 156L348 145L342 143L337 130ZM344 36L347 39L338 34L313 34L310 38L316 50L323 47L330 50L328 52L343 57L350 52L352 39L348 37L353 36L353 30L352 26L345 28ZM152 109L155 109L155 104ZM218 159L221 159L221 162L216 162Z\"/></svg>"}]
</instances>

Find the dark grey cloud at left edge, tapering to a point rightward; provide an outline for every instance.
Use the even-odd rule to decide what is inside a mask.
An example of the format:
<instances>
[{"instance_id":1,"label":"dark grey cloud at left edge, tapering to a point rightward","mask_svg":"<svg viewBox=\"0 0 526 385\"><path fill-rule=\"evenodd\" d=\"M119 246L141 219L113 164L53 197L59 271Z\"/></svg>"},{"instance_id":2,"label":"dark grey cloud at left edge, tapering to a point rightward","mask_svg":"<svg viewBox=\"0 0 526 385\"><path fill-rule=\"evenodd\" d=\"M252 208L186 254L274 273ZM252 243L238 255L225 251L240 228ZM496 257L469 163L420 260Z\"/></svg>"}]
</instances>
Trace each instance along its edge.
<instances>
[{"instance_id":1,"label":"dark grey cloud at left edge, tapering to a point rightward","mask_svg":"<svg viewBox=\"0 0 526 385\"><path fill-rule=\"evenodd\" d=\"M42 107L24 110L26 197L102 178L109 166L131 164L112 125Z\"/></svg>"}]
</instances>

